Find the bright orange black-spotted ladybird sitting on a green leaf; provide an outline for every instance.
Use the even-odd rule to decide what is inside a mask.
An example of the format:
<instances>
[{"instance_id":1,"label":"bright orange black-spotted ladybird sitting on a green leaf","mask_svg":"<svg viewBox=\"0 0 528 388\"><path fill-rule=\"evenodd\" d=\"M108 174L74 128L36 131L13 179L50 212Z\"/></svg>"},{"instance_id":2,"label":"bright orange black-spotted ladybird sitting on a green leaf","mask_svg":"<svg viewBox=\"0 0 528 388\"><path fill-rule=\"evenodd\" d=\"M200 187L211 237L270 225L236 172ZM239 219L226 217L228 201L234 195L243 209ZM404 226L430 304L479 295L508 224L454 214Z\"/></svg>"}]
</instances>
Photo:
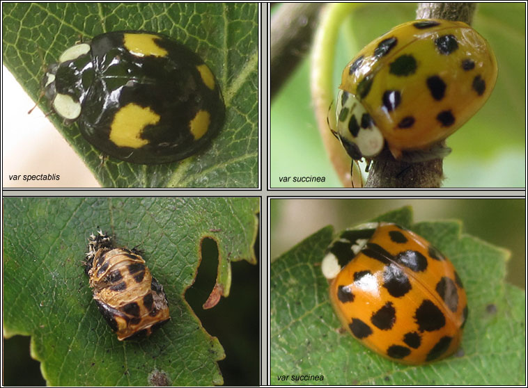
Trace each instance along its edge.
<instances>
[{"instance_id":1,"label":"bright orange black-spotted ladybird sitting on a green leaf","mask_svg":"<svg viewBox=\"0 0 528 388\"><path fill-rule=\"evenodd\" d=\"M380 355L421 364L460 345L467 318L460 277L410 230L391 223L347 229L329 246L322 269L343 327Z\"/></svg>"}]
</instances>

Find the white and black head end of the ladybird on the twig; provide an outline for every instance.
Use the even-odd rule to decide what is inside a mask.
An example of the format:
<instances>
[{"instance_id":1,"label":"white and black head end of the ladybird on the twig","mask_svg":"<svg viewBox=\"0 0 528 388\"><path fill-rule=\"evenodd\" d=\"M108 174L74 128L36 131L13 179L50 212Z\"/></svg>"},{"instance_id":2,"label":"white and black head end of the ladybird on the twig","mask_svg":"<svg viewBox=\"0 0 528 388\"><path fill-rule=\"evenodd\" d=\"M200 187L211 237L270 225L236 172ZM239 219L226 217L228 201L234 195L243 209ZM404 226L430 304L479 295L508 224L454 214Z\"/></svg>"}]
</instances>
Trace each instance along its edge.
<instances>
[{"instance_id":1,"label":"white and black head end of the ladybird on the twig","mask_svg":"<svg viewBox=\"0 0 528 388\"><path fill-rule=\"evenodd\" d=\"M336 136L354 160L378 155L385 139L357 97L339 90L336 102Z\"/></svg>"}]
</instances>

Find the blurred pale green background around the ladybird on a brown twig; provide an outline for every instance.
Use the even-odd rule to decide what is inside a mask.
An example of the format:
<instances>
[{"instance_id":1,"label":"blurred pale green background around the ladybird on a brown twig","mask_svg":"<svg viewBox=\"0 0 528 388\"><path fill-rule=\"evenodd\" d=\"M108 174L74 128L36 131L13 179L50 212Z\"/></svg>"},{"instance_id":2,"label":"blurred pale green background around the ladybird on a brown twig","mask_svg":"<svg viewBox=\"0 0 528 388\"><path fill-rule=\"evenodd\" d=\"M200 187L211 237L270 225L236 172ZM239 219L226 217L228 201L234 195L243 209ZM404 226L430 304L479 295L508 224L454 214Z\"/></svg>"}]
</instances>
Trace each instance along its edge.
<instances>
[{"instance_id":1,"label":"blurred pale green background around the ladybird on a brown twig","mask_svg":"<svg viewBox=\"0 0 528 388\"><path fill-rule=\"evenodd\" d=\"M368 3L350 16L352 36L337 42L335 92L343 67L368 42L392 27L415 19L416 3ZM497 85L488 102L451 135L453 149L444 159L443 187L525 187L525 8L526 3L479 3L473 27L495 51ZM325 176L324 184L295 187L341 187L323 149L310 99L309 57L290 77L271 106L271 179ZM337 141L337 140L336 140Z\"/></svg>"}]
</instances>

